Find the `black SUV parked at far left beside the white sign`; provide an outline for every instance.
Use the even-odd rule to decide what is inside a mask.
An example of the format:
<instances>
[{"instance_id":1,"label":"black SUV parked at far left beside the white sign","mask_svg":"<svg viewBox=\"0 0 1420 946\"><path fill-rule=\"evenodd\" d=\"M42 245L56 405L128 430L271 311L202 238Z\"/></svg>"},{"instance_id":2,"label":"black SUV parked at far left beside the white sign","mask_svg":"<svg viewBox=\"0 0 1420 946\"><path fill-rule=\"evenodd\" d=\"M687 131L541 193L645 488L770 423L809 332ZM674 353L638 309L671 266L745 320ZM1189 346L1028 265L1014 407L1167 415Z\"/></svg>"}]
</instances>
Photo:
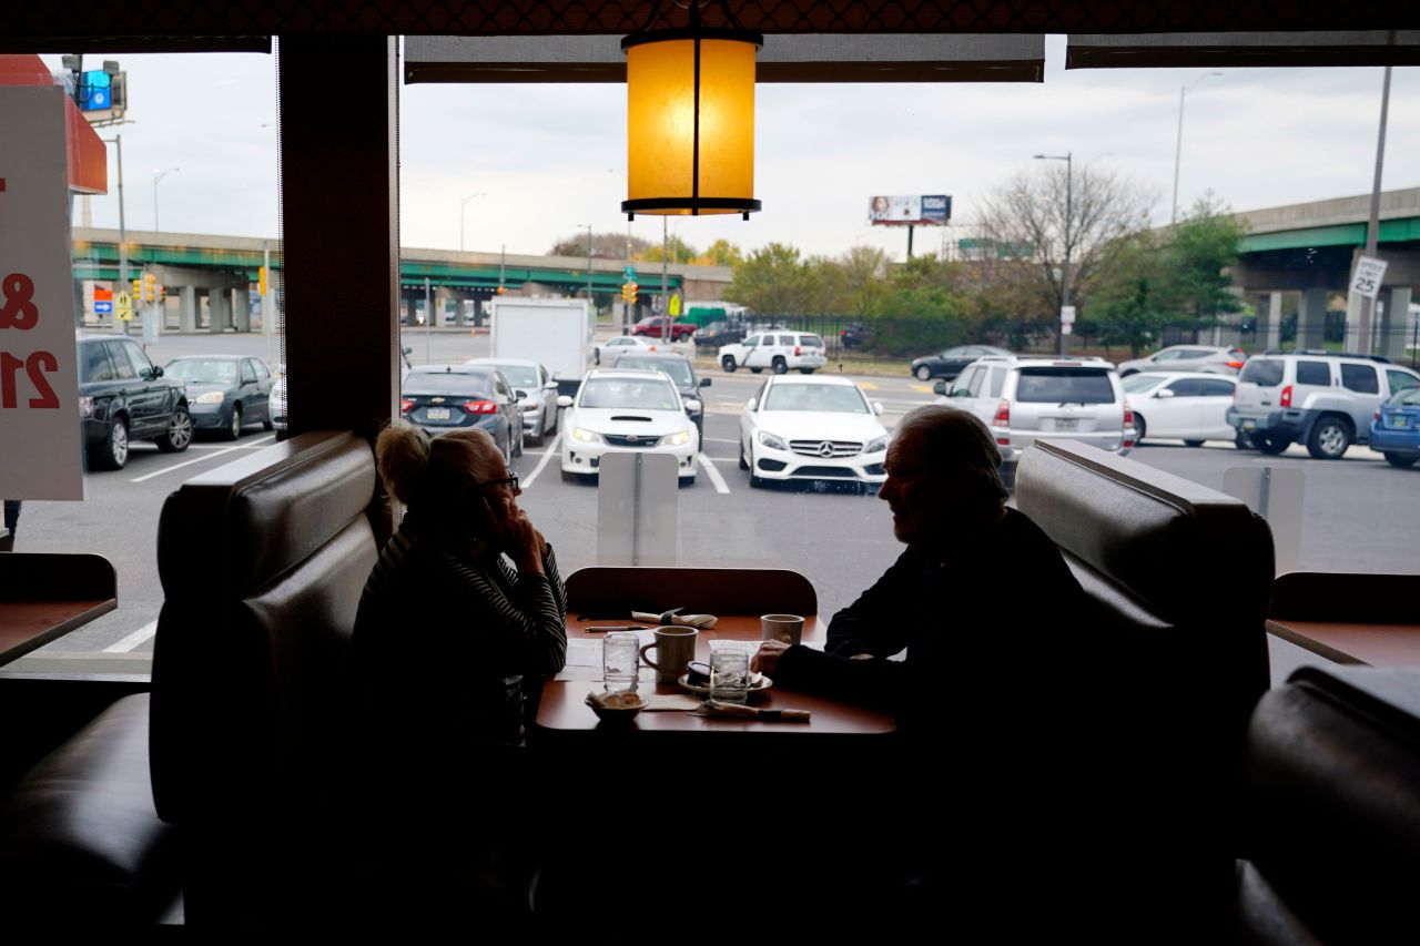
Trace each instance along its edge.
<instances>
[{"instance_id":1,"label":"black SUV parked at far left beside the white sign","mask_svg":"<svg viewBox=\"0 0 1420 946\"><path fill-rule=\"evenodd\" d=\"M187 389L148 361L126 335L85 335L78 341L80 418L88 463L121 470L133 440L152 440L163 453L192 443Z\"/></svg>"}]
</instances>

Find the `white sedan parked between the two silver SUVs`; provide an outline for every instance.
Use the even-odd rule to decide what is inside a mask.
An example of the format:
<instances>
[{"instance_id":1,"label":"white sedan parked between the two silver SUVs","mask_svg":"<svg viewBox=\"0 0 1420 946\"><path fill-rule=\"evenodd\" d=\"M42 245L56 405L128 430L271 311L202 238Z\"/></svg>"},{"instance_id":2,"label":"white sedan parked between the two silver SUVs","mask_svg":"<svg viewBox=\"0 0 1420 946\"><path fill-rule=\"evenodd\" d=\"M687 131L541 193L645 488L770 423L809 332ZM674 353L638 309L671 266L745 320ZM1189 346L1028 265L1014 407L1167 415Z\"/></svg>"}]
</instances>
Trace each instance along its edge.
<instances>
[{"instance_id":1,"label":"white sedan parked between the two silver SUVs","mask_svg":"<svg viewBox=\"0 0 1420 946\"><path fill-rule=\"evenodd\" d=\"M1196 371L1149 371L1122 379L1139 439L1174 439L1189 446L1234 440L1227 420L1237 381Z\"/></svg>"}]
</instances>

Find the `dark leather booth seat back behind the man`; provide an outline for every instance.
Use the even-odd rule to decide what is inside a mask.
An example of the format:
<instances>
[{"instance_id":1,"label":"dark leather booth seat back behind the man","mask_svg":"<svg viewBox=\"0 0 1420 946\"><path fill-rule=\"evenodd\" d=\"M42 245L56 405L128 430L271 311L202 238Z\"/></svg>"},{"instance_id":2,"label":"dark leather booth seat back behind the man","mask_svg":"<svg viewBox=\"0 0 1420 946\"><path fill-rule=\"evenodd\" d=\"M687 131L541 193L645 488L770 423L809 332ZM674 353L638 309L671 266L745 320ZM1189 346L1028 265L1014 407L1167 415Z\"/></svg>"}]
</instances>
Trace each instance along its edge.
<instances>
[{"instance_id":1,"label":"dark leather booth seat back behind the man","mask_svg":"<svg viewBox=\"0 0 1420 946\"><path fill-rule=\"evenodd\" d=\"M1098 857L1125 881L1112 908L1181 918L1170 939L1217 935L1233 899L1244 736L1268 686L1271 531L1231 496L1072 440L1027 450L1015 497L1091 601L1059 631L1089 669L1075 699L1098 724L1081 733L1072 784L1091 801L1108 795L1092 811Z\"/></svg>"}]
</instances>

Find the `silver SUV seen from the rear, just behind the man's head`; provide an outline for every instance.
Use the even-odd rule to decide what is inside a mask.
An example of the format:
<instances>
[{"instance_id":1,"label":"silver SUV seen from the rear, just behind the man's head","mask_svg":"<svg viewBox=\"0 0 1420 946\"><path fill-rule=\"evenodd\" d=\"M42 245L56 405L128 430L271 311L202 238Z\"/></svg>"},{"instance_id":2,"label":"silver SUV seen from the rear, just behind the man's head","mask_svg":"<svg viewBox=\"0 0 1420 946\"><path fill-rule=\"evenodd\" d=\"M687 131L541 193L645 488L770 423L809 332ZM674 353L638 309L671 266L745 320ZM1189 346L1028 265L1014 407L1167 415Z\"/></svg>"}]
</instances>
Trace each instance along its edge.
<instances>
[{"instance_id":1,"label":"silver SUV seen from the rear, just behind the man's head","mask_svg":"<svg viewBox=\"0 0 1420 946\"><path fill-rule=\"evenodd\" d=\"M1071 437L1120 456L1135 446L1119 374L1099 358L980 358L947 385L937 382L937 403L985 422L1008 480L1037 439Z\"/></svg>"}]
</instances>

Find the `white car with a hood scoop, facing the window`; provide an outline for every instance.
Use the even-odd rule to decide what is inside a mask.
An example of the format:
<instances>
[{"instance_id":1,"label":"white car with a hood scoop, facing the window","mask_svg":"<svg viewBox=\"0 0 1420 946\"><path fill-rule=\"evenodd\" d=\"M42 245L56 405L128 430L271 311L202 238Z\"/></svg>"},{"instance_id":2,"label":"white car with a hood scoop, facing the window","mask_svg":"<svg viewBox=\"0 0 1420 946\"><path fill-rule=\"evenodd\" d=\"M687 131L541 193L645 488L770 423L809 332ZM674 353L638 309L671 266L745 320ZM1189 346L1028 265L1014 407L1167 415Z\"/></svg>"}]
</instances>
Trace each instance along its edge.
<instances>
[{"instance_id":1,"label":"white car with a hood scoop, facing the window","mask_svg":"<svg viewBox=\"0 0 1420 946\"><path fill-rule=\"evenodd\" d=\"M562 479L595 474L611 452L669 453L683 484L696 482L700 435L680 392L659 371L594 369L577 398L561 396Z\"/></svg>"}]
</instances>

